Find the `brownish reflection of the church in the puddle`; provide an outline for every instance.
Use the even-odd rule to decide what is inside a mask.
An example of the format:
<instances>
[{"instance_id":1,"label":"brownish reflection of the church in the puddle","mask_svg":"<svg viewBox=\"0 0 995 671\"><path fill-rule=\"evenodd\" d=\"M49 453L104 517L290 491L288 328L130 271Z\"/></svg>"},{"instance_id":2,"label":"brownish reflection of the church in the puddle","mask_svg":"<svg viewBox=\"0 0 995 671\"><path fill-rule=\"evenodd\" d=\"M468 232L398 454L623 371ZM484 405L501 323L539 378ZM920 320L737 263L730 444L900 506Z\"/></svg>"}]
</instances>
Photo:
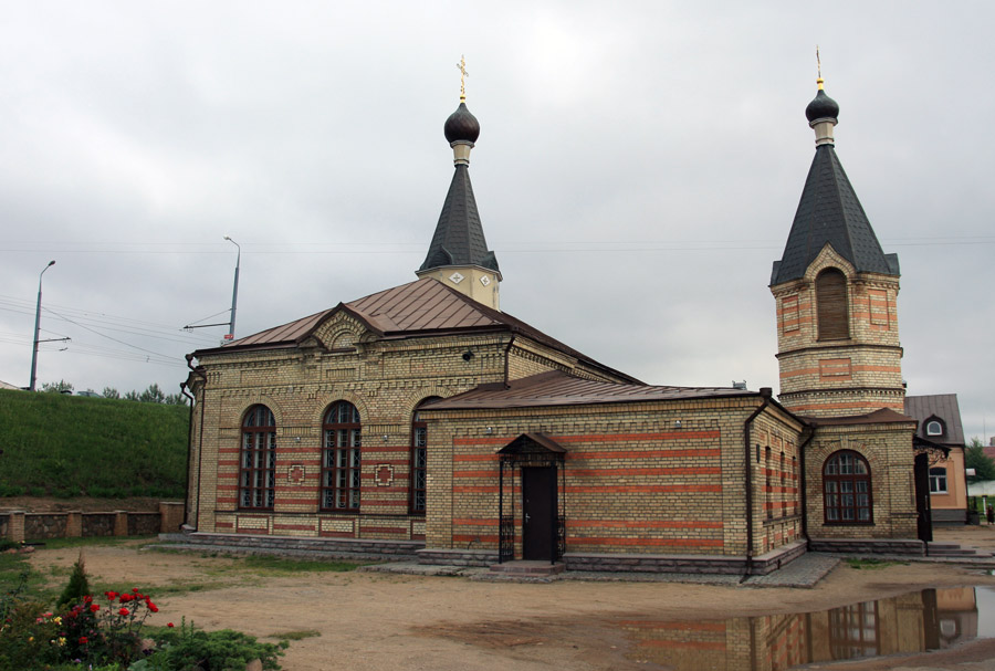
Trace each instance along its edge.
<instances>
[{"instance_id":1,"label":"brownish reflection of the church in the puddle","mask_svg":"<svg viewBox=\"0 0 995 671\"><path fill-rule=\"evenodd\" d=\"M619 623L636 642L630 656L640 660L679 671L782 671L810 662L939 650L976 638L980 606L983 619L995 620L991 591L978 591L923 589L820 612ZM983 628L981 636L986 635Z\"/></svg>"}]
</instances>

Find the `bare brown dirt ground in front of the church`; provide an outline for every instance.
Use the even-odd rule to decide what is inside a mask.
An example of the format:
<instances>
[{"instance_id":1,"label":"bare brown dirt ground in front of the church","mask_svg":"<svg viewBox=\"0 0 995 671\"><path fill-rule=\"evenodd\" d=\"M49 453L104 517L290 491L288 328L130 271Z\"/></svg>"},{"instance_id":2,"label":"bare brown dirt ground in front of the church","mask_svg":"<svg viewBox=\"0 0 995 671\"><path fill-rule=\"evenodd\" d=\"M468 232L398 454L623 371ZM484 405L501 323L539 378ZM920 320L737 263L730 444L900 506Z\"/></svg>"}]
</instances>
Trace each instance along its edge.
<instances>
[{"instance_id":1,"label":"bare brown dirt ground in front of the church","mask_svg":"<svg viewBox=\"0 0 995 671\"><path fill-rule=\"evenodd\" d=\"M936 539L995 549L995 527L941 531ZM31 562L62 584L76 554L41 549ZM920 563L841 565L814 589L480 583L362 572L265 575L234 559L142 551L139 543L87 547L85 563L95 583L132 585L154 596L157 587L202 587L157 597L160 612L153 623L179 625L186 616L203 629L233 628L268 640L317 632L291 643L282 664L293 671L664 669L645 659L646 647L630 638L627 623L806 612L926 587L995 586L995 577L977 569ZM991 670L995 640L832 668Z\"/></svg>"}]
</instances>

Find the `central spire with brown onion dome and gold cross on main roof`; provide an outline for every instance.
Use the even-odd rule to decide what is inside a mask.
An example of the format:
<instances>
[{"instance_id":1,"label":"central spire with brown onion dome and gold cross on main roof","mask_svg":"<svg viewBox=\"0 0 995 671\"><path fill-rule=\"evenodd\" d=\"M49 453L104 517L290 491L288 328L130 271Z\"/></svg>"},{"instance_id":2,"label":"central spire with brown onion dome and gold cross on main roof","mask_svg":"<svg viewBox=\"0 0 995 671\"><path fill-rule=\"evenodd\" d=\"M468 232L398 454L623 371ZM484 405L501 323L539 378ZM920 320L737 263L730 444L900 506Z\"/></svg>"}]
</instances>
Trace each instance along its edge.
<instances>
[{"instance_id":1,"label":"central spire with brown onion dome and gold cross on main roof","mask_svg":"<svg viewBox=\"0 0 995 671\"><path fill-rule=\"evenodd\" d=\"M459 67L465 75L462 60ZM500 310L498 283L501 282L501 270L494 252L488 250L470 184L470 149L480 137L480 123L467 108L467 90L462 81L460 106L446 119L443 133L452 147L455 171L425 263L415 274L434 277L478 303Z\"/></svg>"}]
</instances>

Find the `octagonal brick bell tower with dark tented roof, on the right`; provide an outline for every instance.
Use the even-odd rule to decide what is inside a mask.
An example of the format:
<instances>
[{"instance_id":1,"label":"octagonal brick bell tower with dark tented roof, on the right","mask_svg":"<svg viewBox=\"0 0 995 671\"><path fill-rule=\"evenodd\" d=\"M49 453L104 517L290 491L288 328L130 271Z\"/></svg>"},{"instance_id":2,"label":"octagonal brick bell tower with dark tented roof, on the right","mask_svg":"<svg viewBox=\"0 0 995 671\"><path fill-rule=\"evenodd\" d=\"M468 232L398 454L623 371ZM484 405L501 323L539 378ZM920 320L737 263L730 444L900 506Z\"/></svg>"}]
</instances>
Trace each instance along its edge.
<instances>
[{"instance_id":1,"label":"octagonal brick bell tower with dark tented roof, on the right","mask_svg":"<svg viewBox=\"0 0 995 671\"><path fill-rule=\"evenodd\" d=\"M779 400L813 418L903 412L898 256L881 250L836 156L839 105L817 83L805 109L816 154L771 275Z\"/></svg>"}]
</instances>

